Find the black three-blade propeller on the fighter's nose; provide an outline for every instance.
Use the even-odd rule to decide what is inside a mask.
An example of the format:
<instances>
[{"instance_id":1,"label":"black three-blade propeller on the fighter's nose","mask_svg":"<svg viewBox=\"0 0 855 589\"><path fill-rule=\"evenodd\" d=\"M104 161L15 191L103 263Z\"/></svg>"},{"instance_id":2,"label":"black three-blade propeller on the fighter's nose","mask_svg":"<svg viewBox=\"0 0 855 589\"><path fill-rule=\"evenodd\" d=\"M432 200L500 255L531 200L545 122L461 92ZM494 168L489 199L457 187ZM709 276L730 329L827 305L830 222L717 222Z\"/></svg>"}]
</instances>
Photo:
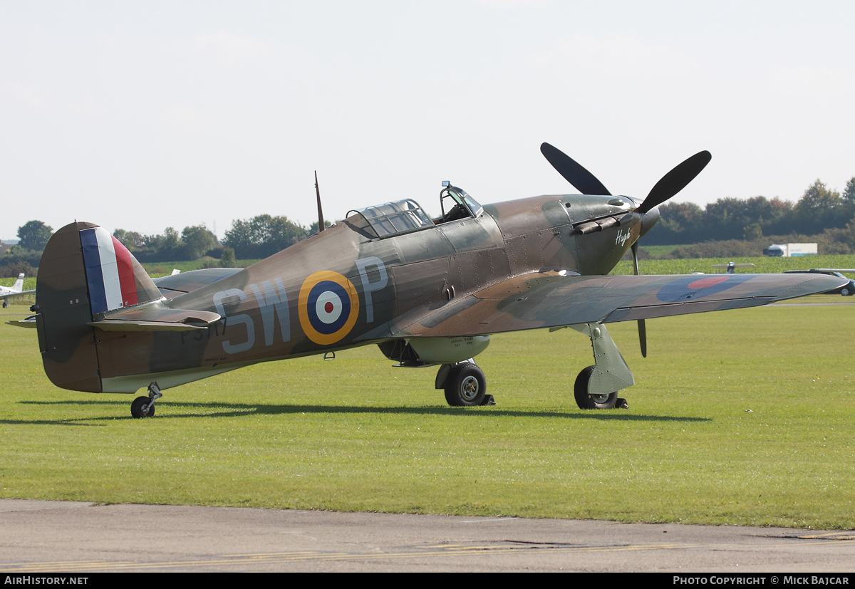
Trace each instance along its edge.
<instances>
[{"instance_id":1,"label":"black three-blade propeller on the fighter's nose","mask_svg":"<svg viewBox=\"0 0 855 589\"><path fill-rule=\"evenodd\" d=\"M558 174L561 174L564 180L567 180L582 194L611 196L611 192L606 190L603 183L597 180L596 176L588 172L579 162L575 162L575 160L562 150L544 143L540 145L540 153L544 155L546 161L552 164L553 168L557 169ZM689 182L694 180L695 176L701 173L701 170L706 167L706 164L710 163L711 159L712 155L709 151L699 151L686 161L678 164L668 174L665 174L656 183L656 186L653 186L650 194L647 195L644 202L634 212L639 215L646 215L651 209L655 209L670 197L673 197L677 192L685 188ZM639 274L638 240L630 246L630 249L633 252L634 274ZM647 357L647 329L643 319L638 320L638 323L641 356Z\"/></svg>"}]
</instances>

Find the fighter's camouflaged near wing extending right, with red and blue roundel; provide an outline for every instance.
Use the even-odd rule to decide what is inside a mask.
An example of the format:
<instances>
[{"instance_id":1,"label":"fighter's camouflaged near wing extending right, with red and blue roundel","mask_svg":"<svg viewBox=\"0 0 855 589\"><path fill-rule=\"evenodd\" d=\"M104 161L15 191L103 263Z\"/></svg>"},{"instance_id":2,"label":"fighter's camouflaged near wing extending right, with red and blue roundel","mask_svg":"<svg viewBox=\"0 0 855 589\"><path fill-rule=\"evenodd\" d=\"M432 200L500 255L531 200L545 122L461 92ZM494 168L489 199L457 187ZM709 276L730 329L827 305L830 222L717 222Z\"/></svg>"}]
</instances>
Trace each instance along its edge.
<instances>
[{"instance_id":1,"label":"fighter's camouflaged near wing extending right, with red and blue roundel","mask_svg":"<svg viewBox=\"0 0 855 589\"><path fill-rule=\"evenodd\" d=\"M827 274L525 274L439 309L414 309L392 337L460 337L742 309L846 284Z\"/></svg>"}]
</instances>

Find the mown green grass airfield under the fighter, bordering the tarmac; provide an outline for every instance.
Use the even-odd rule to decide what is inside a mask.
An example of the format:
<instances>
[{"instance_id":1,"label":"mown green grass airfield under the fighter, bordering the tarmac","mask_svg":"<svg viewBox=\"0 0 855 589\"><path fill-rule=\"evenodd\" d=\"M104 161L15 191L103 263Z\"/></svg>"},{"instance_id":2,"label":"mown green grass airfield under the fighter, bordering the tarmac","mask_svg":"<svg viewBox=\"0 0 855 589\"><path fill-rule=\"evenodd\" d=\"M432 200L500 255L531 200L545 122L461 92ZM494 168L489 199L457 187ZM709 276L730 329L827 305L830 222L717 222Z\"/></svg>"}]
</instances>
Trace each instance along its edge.
<instances>
[{"instance_id":1,"label":"mown green grass airfield under the fighter, bordering the tarmac","mask_svg":"<svg viewBox=\"0 0 855 589\"><path fill-rule=\"evenodd\" d=\"M493 407L452 409L433 368L370 346L169 389L134 420L133 395L52 386L35 330L0 325L0 497L855 527L855 307L649 320L646 359L634 322L609 329L629 409L576 408L593 358L564 329L493 336Z\"/></svg>"}]
</instances>

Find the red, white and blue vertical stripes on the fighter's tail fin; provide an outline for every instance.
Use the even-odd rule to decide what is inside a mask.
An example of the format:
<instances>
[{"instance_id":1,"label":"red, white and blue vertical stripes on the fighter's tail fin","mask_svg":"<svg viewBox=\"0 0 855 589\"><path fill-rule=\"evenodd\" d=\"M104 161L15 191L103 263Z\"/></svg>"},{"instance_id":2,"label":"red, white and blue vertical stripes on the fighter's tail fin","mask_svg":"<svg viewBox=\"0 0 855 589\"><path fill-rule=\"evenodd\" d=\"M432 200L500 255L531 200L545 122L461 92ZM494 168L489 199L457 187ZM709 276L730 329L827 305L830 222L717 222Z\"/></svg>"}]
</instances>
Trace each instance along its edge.
<instances>
[{"instance_id":1,"label":"red, white and blue vertical stripes on the fighter's tail fin","mask_svg":"<svg viewBox=\"0 0 855 589\"><path fill-rule=\"evenodd\" d=\"M139 303L133 256L103 227L80 232L92 314Z\"/></svg>"}]
</instances>

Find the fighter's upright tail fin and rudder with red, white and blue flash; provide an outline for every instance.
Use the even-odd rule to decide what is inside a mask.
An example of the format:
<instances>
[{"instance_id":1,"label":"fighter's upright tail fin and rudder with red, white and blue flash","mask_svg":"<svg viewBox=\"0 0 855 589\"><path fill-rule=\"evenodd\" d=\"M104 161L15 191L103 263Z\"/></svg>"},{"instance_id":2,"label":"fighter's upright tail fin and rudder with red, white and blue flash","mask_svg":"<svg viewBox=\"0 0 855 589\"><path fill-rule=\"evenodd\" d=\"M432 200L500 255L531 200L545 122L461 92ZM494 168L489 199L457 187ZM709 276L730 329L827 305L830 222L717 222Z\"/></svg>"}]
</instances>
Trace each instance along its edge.
<instances>
[{"instance_id":1,"label":"fighter's upright tail fin and rudder with red, white and blue flash","mask_svg":"<svg viewBox=\"0 0 855 589\"><path fill-rule=\"evenodd\" d=\"M94 328L103 313L161 297L131 252L103 227L71 223L44 248L36 324L44 372L56 386L101 392Z\"/></svg>"}]
</instances>

